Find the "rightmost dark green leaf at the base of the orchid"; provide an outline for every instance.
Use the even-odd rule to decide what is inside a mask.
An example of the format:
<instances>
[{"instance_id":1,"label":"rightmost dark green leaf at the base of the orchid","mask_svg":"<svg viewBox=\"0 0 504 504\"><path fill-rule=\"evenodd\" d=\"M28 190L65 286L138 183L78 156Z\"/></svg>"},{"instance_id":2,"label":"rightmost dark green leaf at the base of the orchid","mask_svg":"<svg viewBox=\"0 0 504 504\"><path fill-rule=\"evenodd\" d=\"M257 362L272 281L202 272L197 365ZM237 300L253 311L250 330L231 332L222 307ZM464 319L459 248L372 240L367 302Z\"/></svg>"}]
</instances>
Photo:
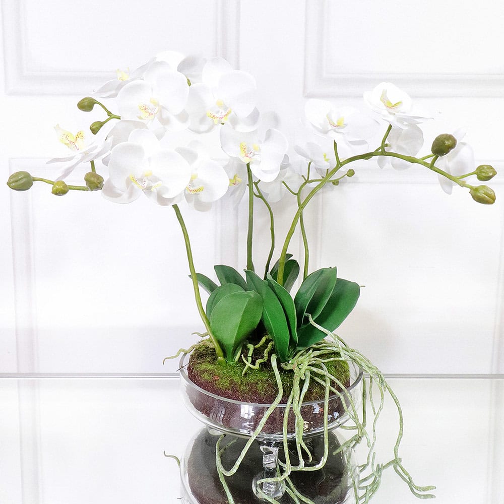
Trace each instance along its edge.
<instances>
[{"instance_id":1,"label":"rightmost dark green leaf at the base of the orchid","mask_svg":"<svg viewBox=\"0 0 504 504\"><path fill-rule=\"evenodd\" d=\"M333 332L348 317L355 307L360 294L359 284L338 278L333 292L324 309L314 322L324 329ZM297 331L298 347L306 348L325 338L325 334L309 322Z\"/></svg>"}]
</instances>

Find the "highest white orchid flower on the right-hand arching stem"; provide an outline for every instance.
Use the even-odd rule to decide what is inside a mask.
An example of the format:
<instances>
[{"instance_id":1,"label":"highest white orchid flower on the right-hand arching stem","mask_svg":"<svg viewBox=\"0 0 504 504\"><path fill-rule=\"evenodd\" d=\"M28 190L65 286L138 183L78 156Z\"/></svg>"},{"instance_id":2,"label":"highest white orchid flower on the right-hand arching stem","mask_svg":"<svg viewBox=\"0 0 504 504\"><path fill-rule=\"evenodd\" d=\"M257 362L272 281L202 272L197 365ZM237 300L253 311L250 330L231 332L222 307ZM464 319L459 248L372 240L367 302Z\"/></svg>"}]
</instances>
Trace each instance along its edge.
<instances>
[{"instance_id":1,"label":"highest white orchid flower on the right-hand arching stem","mask_svg":"<svg viewBox=\"0 0 504 504\"><path fill-rule=\"evenodd\" d=\"M372 91L366 91L364 101L382 119L403 130L432 118L414 113L410 96L390 82L382 82Z\"/></svg>"}]
</instances>

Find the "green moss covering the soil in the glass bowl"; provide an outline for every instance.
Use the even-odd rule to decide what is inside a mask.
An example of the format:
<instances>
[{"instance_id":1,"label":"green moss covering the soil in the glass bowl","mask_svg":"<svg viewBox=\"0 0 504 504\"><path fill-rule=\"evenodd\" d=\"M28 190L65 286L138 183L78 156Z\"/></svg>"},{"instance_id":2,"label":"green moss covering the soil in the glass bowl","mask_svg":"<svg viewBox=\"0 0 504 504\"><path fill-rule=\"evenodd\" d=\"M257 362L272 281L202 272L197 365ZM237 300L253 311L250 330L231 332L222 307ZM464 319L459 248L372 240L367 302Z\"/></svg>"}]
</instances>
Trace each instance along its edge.
<instances>
[{"instance_id":1,"label":"green moss covering the soil in the glass bowl","mask_svg":"<svg viewBox=\"0 0 504 504\"><path fill-rule=\"evenodd\" d=\"M246 354L245 354L246 355ZM324 359L338 358L336 353L324 356ZM325 363L329 373L341 383L349 383L348 363L341 360L333 360ZM278 394L275 373L269 361L263 362L258 369L249 368L244 375L244 362L218 364L215 351L212 347L201 344L191 354L188 372L191 379L203 389L239 401L269 403ZM280 378L286 399L293 387L294 373L290 369L279 366ZM301 387L302 387L301 383ZM324 398L325 388L323 385L310 380L310 386L304 398L305 401L317 401Z\"/></svg>"}]
</instances>

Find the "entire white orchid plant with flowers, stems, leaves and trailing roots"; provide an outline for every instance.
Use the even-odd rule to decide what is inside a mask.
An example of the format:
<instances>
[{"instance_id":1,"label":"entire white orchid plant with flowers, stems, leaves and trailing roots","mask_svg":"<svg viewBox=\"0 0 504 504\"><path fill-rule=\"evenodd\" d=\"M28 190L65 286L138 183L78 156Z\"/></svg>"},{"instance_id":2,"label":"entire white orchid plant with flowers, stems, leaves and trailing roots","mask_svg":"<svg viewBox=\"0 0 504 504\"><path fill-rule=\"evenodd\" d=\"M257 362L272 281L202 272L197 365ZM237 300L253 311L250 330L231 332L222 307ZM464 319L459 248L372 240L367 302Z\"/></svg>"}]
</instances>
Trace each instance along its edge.
<instances>
[{"instance_id":1,"label":"entire white orchid plant with flowers, stems, leaves and trailing roots","mask_svg":"<svg viewBox=\"0 0 504 504\"><path fill-rule=\"evenodd\" d=\"M351 399L345 406L352 423L346 428L353 431L345 446L353 447L364 440L368 448L367 459L359 466L360 481L353 481L356 502L371 498L387 467L393 467L416 496L432 497L428 492L434 487L417 486L402 465L398 454L402 413L383 374L334 334L355 306L360 287L356 282L338 278L334 266L309 271L303 211L325 187L351 178L355 173L351 166L359 161L375 160L380 167L422 166L439 178L446 193L459 186L481 204L492 204L495 194L479 181L490 180L496 172L489 165L474 166L472 149L462 141L461 131L440 134L433 140L430 152L419 154L424 144L419 124L428 120L429 114L417 111L409 95L391 83L380 83L364 93L368 114L329 101L307 100L307 137L319 140L294 146L290 151L281 131L265 127L256 107L256 92L255 79L234 70L222 58L160 54L134 72L117 71L116 79L79 101L82 111L89 112L95 106L104 111L104 119L90 125L91 135L85 131L71 133L56 125L59 141L71 153L48 161L58 167L53 180L21 171L13 173L7 183L13 190L26 191L34 182L44 182L57 196L70 191L101 191L107 200L122 204L144 195L158 205L172 207L182 230L195 300L205 326L203 344L213 349L216 362L223 366L239 363L243 373L271 366L279 388L272 408L282 398L279 369L290 370L294 377L288 404L299 417L300 425L300 405L310 380L325 387L327 408L329 393L341 396L344 389L344 384L328 371L328 362L354 362L366 373L366 379L362 412L359 414ZM101 99L113 99L114 105L105 106ZM95 136L101 140L93 141ZM195 136L201 141L195 141ZM376 138L379 140L372 145ZM174 139L179 142L175 147ZM108 170L108 178L98 173L98 162ZM87 167L84 183L69 184L67 177L83 167ZM474 179L478 182L469 182ZM179 205L208 211L225 197L232 197L236 203L243 197L248 200L247 261L244 275L231 266L215 266L217 284L196 270ZM271 203L283 197L293 198L297 208L273 263L276 243ZM253 261L256 203L265 205L271 220L269 254L260 269ZM304 244L301 266L289 254L290 241L298 227ZM291 289L296 282L299 287L293 295ZM200 287L209 294L205 306ZM193 345L189 351L201 344ZM372 396L373 387L379 390L378 405ZM374 452L375 425L386 394L397 406L400 428L393 457L378 463ZM368 400L372 415L366 413ZM371 428L366 428L366 422ZM260 429L250 442L259 434ZM302 434L302 428L298 429L298 453L307 450ZM327 442L327 424L324 434ZM248 447L249 444L239 460ZM282 482L295 501L309 501L293 487L290 475L296 470L323 467L325 460L310 469L301 458L298 466L293 466L287 449L285 457L278 475L264 481ZM238 465L239 461L233 469L226 470L218 463L230 503L233 496L225 478ZM262 494L262 490L259 492L265 500L277 501Z\"/></svg>"}]
</instances>

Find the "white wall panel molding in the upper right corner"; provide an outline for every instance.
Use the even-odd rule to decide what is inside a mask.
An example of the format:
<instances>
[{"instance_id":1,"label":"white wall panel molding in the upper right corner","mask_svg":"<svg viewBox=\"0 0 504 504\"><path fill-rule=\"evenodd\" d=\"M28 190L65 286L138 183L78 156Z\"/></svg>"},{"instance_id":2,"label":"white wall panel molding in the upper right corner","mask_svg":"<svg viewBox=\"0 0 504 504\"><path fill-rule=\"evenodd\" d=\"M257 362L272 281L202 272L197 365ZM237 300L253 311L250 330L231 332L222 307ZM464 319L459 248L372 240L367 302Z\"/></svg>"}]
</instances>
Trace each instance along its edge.
<instances>
[{"instance_id":1,"label":"white wall panel molding in the upper right corner","mask_svg":"<svg viewBox=\"0 0 504 504\"><path fill-rule=\"evenodd\" d=\"M305 16L305 97L361 97L376 83L392 80L416 97L504 97L504 73L409 74L409 73L334 73L327 68L326 19L328 0L306 0ZM339 50L344 45L338 43ZM351 43L351 41L350 41ZM334 48L334 47L333 47Z\"/></svg>"}]
</instances>

